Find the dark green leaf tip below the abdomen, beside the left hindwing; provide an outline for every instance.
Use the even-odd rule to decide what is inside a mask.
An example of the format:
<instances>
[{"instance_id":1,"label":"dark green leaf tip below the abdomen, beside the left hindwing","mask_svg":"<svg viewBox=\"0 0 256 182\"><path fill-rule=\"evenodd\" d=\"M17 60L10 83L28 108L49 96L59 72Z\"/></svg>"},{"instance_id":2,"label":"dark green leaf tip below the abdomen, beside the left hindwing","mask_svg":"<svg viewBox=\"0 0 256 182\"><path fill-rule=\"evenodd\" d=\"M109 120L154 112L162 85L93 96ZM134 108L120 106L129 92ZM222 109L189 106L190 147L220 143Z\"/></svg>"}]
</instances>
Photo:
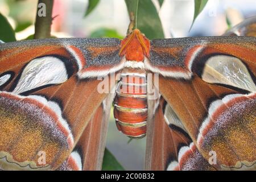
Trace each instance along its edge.
<instances>
[{"instance_id":1,"label":"dark green leaf tip below the abdomen, beside the left hindwing","mask_svg":"<svg viewBox=\"0 0 256 182\"><path fill-rule=\"evenodd\" d=\"M121 164L115 159L114 155L110 153L110 151L105 148L102 171L124 171L125 169L121 166Z\"/></svg>"}]
</instances>

